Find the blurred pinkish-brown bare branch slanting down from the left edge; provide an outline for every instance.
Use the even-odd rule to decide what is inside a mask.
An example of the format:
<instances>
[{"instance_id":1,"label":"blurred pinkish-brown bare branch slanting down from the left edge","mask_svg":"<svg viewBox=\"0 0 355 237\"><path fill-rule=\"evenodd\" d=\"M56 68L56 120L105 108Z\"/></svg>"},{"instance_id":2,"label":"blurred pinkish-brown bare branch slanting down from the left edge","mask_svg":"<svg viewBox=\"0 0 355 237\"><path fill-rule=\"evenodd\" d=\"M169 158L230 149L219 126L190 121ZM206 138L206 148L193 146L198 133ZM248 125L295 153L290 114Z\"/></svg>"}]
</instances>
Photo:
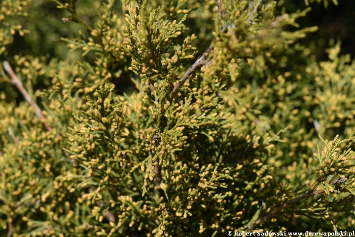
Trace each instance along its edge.
<instances>
[{"instance_id":1,"label":"blurred pinkish-brown bare branch slanting down from the left edge","mask_svg":"<svg viewBox=\"0 0 355 237\"><path fill-rule=\"evenodd\" d=\"M33 101L33 99L31 98L31 96L29 95L29 93L27 92L27 90L25 89L25 87L23 86L22 82L20 79L18 79L18 77L16 76L15 72L12 70L10 64L5 60L2 62L2 66L5 69L5 71L10 75L11 77L11 82L13 84L16 85L16 87L19 89L19 91L21 92L21 94L23 95L23 97L25 97L25 99L27 100L27 102L30 103L30 105L35 109L36 115L37 117L41 120L41 122L43 123L43 125L46 127L46 129L48 131L51 131L52 128L49 126L49 124L46 122L46 119L44 117L44 115L42 114L42 111L40 110L40 108L38 107L38 105L35 103L35 101Z\"/></svg>"}]
</instances>

